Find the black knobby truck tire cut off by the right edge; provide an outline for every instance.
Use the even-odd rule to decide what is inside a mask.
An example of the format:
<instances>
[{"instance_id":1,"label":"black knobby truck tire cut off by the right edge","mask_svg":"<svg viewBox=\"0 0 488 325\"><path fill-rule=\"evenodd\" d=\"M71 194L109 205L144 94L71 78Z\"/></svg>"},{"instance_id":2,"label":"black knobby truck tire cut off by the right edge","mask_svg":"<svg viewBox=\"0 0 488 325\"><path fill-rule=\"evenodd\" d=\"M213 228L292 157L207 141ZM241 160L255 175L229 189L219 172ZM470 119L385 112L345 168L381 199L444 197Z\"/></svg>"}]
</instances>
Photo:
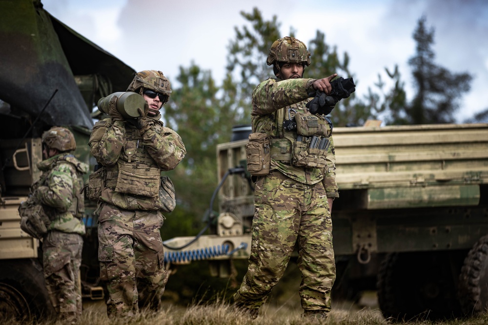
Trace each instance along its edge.
<instances>
[{"instance_id":1,"label":"black knobby truck tire cut off by the right edge","mask_svg":"<svg viewBox=\"0 0 488 325\"><path fill-rule=\"evenodd\" d=\"M478 315L488 310L488 235L469 250L459 275L458 299L463 313Z\"/></svg>"}]
</instances>

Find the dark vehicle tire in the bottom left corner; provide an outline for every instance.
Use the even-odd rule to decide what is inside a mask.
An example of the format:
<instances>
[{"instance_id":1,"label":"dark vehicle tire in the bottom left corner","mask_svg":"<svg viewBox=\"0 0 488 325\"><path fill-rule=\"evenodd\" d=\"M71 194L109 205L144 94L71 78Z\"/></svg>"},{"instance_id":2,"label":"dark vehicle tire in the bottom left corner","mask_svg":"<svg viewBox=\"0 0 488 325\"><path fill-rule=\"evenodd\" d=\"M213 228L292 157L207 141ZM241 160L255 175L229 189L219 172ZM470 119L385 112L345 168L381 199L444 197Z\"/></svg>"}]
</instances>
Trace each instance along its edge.
<instances>
[{"instance_id":1,"label":"dark vehicle tire in the bottom left corner","mask_svg":"<svg viewBox=\"0 0 488 325\"><path fill-rule=\"evenodd\" d=\"M0 261L0 319L41 320L55 315L37 259Z\"/></svg>"}]
</instances>

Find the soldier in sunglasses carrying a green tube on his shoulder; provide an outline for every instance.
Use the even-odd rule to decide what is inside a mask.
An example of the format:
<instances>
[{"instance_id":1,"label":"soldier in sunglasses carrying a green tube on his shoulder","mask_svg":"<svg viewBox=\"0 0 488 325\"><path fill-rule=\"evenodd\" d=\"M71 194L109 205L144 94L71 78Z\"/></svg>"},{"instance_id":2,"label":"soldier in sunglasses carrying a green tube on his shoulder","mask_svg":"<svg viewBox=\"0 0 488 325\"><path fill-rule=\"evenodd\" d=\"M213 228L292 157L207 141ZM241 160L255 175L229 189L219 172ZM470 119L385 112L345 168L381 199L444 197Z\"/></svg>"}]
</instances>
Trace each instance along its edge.
<instances>
[{"instance_id":1,"label":"soldier in sunglasses carrying a green tube on his shoulder","mask_svg":"<svg viewBox=\"0 0 488 325\"><path fill-rule=\"evenodd\" d=\"M139 72L127 91L143 96L145 111L125 119L110 102L110 118L95 124L89 141L105 181L99 198L99 261L109 317L134 316L139 308L161 305L167 282L162 211L171 211L175 202L171 181L160 175L186 154L181 137L160 121L171 94L163 73ZM172 202L163 192L168 187Z\"/></svg>"}]
</instances>

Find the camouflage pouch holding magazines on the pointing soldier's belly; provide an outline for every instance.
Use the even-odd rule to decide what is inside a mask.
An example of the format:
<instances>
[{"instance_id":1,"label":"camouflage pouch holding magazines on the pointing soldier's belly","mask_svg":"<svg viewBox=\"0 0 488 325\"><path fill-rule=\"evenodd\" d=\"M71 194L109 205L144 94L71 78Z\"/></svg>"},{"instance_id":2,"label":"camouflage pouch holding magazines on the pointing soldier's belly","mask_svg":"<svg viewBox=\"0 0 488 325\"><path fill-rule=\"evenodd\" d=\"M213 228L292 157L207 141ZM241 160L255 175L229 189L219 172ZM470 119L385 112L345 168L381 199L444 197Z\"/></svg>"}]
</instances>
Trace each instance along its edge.
<instances>
[{"instance_id":1,"label":"camouflage pouch holding magazines on the pointing soldier's belly","mask_svg":"<svg viewBox=\"0 0 488 325\"><path fill-rule=\"evenodd\" d=\"M292 145L291 164L304 168L324 168L329 144L325 137L299 135Z\"/></svg>"}]
</instances>

